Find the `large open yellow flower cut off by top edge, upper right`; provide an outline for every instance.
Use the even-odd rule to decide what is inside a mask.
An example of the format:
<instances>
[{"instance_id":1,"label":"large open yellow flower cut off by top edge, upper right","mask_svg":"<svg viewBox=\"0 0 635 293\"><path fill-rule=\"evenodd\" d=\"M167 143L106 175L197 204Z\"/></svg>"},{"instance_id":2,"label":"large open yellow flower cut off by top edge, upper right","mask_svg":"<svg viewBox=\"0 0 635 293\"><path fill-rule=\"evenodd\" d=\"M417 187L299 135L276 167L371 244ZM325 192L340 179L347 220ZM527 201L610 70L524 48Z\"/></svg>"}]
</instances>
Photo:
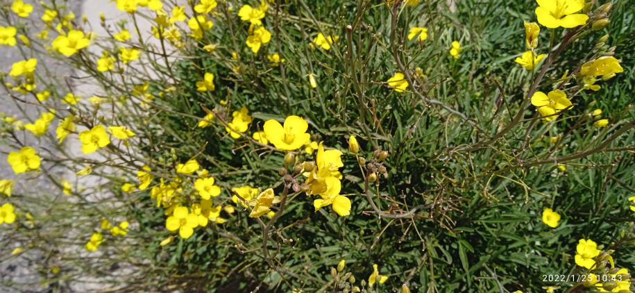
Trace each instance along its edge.
<instances>
[{"instance_id":1,"label":"large open yellow flower cut off by top edge, upper right","mask_svg":"<svg viewBox=\"0 0 635 293\"><path fill-rule=\"evenodd\" d=\"M573 28L586 23L588 16L575 14L584 7L584 0L536 0L538 22L548 28Z\"/></svg>"}]
</instances>

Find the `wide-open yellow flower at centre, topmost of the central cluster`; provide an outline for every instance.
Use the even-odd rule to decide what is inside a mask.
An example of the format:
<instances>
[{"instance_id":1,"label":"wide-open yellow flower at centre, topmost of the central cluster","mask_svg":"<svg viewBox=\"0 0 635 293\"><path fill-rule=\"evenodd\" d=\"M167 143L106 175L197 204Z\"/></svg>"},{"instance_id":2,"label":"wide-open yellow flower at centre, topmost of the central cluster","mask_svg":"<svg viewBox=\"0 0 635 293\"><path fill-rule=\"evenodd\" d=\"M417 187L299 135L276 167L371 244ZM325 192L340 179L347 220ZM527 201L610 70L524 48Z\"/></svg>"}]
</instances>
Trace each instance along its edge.
<instances>
[{"instance_id":1,"label":"wide-open yellow flower at centre, topmost of the central cluster","mask_svg":"<svg viewBox=\"0 0 635 293\"><path fill-rule=\"evenodd\" d=\"M311 135L306 133L308 127L305 119L292 115L285 119L285 126L273 119L264 122L264 133L277 149L295 151L311 139Z\"/></svg>"}]
</instances>

